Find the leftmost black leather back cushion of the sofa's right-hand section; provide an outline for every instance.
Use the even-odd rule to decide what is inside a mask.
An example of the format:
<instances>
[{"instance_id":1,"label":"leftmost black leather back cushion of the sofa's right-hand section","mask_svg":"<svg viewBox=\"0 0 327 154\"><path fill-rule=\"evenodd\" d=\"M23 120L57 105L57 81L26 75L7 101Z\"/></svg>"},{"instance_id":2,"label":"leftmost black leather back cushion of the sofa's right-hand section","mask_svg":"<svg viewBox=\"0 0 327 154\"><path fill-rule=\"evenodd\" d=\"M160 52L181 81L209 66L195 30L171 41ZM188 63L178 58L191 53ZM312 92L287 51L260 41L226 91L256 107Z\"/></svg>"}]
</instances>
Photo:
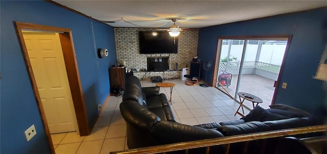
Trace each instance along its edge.
<instances>
[{"instance_id":1,"label":"leftmost black leather back cushion of the sofa's right-hand section","mask_svg":"<svg viewBox=\"0 0 327 154\"><path fill-rule=\"evenodd\" d=\"M238 125L225 125L217 129L225 136L271 131L270 127L260 121L250 121Z\"/></svg>"}]
</instances>

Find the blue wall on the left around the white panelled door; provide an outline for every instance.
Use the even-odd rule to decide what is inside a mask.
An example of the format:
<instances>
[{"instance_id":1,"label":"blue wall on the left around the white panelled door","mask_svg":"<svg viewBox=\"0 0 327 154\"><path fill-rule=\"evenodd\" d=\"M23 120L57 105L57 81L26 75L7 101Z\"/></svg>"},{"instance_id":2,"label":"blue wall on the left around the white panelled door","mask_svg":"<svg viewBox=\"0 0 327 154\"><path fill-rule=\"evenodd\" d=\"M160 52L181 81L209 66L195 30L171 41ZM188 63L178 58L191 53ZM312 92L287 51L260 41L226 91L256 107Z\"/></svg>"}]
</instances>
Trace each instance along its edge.
<instances>
[{"instance_id":1,"label":"blue wall on the left around the white panelled door","mask_svg":"<svg viewBox=\"0 0 327 154\"><path fill-rule=\"evenodd\" d=\"M50 153L13 21L72 29L89 127L98 115L97 104L102 104L109 94L108 68L116 64L113 28L44 1L0 1L0 4L0 153ZM105 47L109 56L98 58L96 49ZM33 124L37 135L27 142L24 131Z\"/></svg>"}]
</instances>

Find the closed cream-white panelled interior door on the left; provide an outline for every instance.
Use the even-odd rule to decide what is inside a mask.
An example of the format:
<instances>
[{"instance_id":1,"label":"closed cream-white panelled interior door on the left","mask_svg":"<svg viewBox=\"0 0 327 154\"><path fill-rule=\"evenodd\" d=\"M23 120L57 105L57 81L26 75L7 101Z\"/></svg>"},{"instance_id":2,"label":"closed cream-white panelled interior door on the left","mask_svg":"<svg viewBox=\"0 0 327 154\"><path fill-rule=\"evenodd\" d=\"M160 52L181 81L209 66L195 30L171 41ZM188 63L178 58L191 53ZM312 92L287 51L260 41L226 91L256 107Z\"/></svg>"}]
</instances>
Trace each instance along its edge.
<instances>
[{"instance_id":1,"label":"closed cream-white panelled interior door on the left","mask_svg":"<svg viewBox=\"0 0 327 154\"><path fill-rule=\"evenodd\" d=\"M77 120L58 33L23 32L50 133L76 131Z\"/></svg>"}]
</instances>

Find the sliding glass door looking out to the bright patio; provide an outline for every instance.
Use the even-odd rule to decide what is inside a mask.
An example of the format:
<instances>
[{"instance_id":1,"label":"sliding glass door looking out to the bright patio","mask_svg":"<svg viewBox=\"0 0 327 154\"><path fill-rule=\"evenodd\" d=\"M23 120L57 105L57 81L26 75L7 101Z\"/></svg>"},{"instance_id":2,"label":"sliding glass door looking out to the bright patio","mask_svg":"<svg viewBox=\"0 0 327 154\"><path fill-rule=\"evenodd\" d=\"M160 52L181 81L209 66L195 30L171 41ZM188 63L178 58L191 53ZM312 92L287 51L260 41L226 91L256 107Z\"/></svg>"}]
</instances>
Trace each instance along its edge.
<instances>
[{"instance_id":1,"label":"sliding glass door looking out to the bright patio","mask_svg":"<svg viewBox=\"0 0 327 154\"><path fill-rule=\"evenodd\" d=\"M288 38L220 39L216 87L238 100L238 92L261 98L269 108ZM247 107L252 104L245 101Z\"/></svg>"}]
</instances>

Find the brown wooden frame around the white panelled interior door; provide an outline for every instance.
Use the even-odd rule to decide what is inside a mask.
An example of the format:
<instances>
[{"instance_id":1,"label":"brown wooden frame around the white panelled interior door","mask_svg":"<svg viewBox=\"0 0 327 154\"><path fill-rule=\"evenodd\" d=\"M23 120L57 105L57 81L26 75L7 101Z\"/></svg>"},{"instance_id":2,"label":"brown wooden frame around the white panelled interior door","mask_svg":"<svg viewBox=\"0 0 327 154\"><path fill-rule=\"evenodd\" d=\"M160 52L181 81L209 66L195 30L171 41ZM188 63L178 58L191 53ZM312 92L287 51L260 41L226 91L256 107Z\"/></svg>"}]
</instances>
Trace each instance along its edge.
<instances>
[{"instance_id":1,"label":"brown wooden frame around the white panelled interior door","mask_svg":"<svg viewBox=\"0 0 327 154\"><path fill-rule=\"evenodd\" d=\"M63 52L63 58L64 58L65 67L66 67L68 82L69 82L69 86L71 88L74 109L76 112L78 129L80 132L80 136L87 136L90 134L90 129L88 126L86 108L85 108L85 103L84 103L84 98L83 98L83 91L82 91L82 86L81 86L81 81L80 81L76 56L75 56L72 30L69 28L61 28L61 27L39 25L39 24L17 22L17 21L14 21L14 24L16 26L16 33L17 33L17 36L19 39L22 54L24 55L26 67L29 72L30 80L32 83L32 88L34 91L34 96L36 99L38 110L41 115L41 120L43 123L45 134L46 134L46 136L48 136L48 141L49 141L52 152L55 153L55 150L53 148L53 143L51 140L48 123L46 122L40 95L39 95L38 88L36 85L36 80L35 80L35 77L33 74L31 61L29 59L27 47L26 47L26 44L24 41L24 37L22 35L22 30L38 30L38 31L48 31L48 32L59 33L59 38L60 38L61 48L62 48L62 52Z\"/></svg>"}]
</instances>

